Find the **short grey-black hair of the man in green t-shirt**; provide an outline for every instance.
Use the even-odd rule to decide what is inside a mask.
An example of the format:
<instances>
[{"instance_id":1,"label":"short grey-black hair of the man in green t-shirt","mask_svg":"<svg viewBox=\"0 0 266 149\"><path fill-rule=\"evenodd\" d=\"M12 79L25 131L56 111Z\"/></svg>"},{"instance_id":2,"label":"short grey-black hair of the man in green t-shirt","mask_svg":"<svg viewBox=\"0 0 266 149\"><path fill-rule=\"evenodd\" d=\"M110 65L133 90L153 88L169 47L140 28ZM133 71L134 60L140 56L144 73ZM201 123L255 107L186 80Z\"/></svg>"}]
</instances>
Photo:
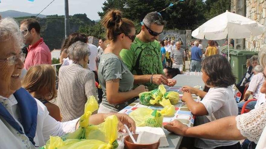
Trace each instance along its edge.
<instances>
[{"instance_id":1,"label":"short grey-black hair of the man in green t-shirt","mask_svg":"<svg viewBox=\"0 0 266 149\"><path fill-rule=\"evenodd\" d=\"M148 26L151 27L151 24L154 23L156 25L164 25L164 20L163 17L161 16L161 14L159 14L158 12L150 12L148 13L144 19L143 19L143 23Z\"/></svg>"}]
</instances>

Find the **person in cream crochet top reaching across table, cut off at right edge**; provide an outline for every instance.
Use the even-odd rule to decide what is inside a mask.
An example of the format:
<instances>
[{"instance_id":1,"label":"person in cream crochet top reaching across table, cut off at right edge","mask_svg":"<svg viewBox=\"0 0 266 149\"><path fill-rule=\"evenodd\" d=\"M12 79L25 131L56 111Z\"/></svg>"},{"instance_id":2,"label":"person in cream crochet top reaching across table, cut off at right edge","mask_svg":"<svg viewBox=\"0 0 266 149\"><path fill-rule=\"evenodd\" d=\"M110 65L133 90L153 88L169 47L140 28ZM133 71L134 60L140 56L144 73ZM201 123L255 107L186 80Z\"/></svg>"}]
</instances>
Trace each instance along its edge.
<instances>
[{"instance_id":1,"label":"person in cream crochet top reaching across table, cut off at right edge","mask_svg":"<svg viewBox=\"0 0 266 149\"><path fill-rule=\"evenodd\" d=\"M266 46L261 48L259 62L266 73ZM261 87L261 93L266 93L266 81ZM266 147L266 103L257 109L238 116L229 116L203 125L188 127L178 120L164 126L170 132L179 135L206 138L213 140L243 140L249 139L257 144L258 149Z\"/></svg>"}]
</instances>

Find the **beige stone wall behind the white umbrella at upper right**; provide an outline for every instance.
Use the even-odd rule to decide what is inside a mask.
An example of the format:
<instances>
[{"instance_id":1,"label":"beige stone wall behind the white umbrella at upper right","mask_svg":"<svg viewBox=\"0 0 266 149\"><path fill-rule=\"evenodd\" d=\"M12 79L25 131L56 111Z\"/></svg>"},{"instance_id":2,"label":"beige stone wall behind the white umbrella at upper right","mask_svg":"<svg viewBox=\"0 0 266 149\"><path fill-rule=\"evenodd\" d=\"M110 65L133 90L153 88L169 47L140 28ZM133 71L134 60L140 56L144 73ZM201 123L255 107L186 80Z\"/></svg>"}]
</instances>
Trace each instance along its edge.
<instances>
[{"instance_id":1,"label":"beige stone wall behind the white umbrella at upper right","mask_svg":"<svg viewBox=\"0 0 266 149\"><path fill-rule=\"evenodd\" d=\"M246 17L255 20L261 25L266 25L266 1L265 0L246 0ZM247 38L245 45L249 51L260 51L260 47L266 44L266 33L259 36Z\"/></svg>"}]
</instances>

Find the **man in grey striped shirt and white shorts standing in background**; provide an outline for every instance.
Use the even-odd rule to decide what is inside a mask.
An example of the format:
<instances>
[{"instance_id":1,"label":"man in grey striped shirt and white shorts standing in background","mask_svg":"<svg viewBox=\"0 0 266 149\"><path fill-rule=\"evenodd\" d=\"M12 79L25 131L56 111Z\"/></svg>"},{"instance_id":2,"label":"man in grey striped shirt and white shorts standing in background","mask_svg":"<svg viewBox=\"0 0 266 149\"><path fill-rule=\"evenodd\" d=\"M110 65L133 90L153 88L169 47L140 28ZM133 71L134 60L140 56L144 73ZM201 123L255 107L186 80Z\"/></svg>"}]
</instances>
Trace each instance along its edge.
<instances>
[{"instance_id":1,"label":"man in grey striped shirt and white shorts standing in background","mask_svg":"<svg viewBox=\"0 0 266 149\"><path fill-rule=\"evenodd\" d=\"M185 64L185 50L181 48L181 42L176 42L176 48L171 53L173 68L178 68L183 73L183 65Z\"/></svg>"}]
</instances>

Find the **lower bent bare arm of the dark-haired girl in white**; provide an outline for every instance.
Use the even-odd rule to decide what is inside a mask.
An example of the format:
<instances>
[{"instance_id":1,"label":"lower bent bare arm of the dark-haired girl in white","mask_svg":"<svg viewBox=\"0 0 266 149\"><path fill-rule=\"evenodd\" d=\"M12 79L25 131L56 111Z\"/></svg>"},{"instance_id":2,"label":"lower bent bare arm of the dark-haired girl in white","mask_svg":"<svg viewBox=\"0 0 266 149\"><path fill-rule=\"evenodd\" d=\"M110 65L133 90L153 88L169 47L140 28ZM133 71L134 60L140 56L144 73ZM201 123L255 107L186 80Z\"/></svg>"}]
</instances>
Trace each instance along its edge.
<instances>
[{"instance_id":1,"label":"lower bent bare arm of the dark-haired girl in white","mask_svg":"<svg viewBox=\"0 0 266 149\"><path fill-rule=\"evenodd\" d=\"M188 109L193 115L203 116L208 114L205 106L200 102L194 101L190 93L184 92L182 101L186 102Z\"/></svg>"}]
</instances>

